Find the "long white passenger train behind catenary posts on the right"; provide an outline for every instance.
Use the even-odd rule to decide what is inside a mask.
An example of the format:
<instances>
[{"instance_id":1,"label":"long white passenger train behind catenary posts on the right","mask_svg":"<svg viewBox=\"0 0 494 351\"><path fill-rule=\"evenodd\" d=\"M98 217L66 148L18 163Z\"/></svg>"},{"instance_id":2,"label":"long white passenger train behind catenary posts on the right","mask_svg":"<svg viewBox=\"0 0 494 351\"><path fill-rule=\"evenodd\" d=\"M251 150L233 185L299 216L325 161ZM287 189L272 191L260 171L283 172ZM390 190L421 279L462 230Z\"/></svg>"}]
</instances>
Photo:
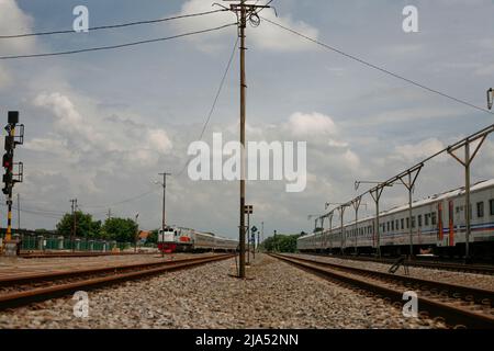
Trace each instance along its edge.
<instances>
[{"instance_id":1,"label":"long white passenger train behind catenary posts on the right","mask_svg":"<svg viewBox=\"0 0 494 351\"><path fill-rule=\"evenodd\" d=\"M465 254L464 188L415 201L412 219L408 204L381 212L380 250L383 256L409 254L412 226L413 254L440 257ZM494 259L494 179L481 181L470 192L471 234L469 256ZM300 252L373 254L377 252L375 216L332 229L315 230L297 239ZM343 233L341 233L343 231Z\"/></svg>"}]
</instances>

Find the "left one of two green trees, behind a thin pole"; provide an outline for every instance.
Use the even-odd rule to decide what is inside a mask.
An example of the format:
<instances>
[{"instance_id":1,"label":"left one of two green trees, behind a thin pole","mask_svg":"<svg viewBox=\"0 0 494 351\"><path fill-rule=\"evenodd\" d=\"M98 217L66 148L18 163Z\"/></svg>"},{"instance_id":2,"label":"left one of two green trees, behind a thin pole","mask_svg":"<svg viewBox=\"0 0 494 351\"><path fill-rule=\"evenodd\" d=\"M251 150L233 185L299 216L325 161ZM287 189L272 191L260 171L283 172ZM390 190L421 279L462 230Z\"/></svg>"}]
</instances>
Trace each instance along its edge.
<instances>
[{"instance_id":1,"label":"left one of two green trees, behind a thin pole","mask_svg":"<svg viewBox=\"0 0 494 351\"><path fill-rule=\"evenodd\" d=\"M93 220L92 215L77 211L76 216L76 237L83 238L100 238L101 236L101 220ZM65 214L60 222L56 225L58 234L64 237L69 237L74 228L74 215Z\"/></svg>"}]
</instances>

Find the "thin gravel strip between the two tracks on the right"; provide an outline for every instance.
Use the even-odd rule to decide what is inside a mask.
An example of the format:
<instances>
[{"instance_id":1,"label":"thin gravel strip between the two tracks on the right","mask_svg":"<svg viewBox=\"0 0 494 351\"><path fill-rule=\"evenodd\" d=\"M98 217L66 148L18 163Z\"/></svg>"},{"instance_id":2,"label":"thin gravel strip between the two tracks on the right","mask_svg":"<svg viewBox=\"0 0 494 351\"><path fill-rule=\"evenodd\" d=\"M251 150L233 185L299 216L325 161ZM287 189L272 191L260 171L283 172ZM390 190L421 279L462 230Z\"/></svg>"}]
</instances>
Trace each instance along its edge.
<instances>
[{"instance_id":1,"label":"thin gravel strip between the two tracks on the right","mask_svg":"<svg viewBox=\"0 0 494 351\"><path fill-rule=\"evenodd\" d=\"M294 254L295 257L297 254ZM312 254L300 254L304 258L311 258L315 260L321 260L323 262L332 262L336 264L355 267L355 268L363 268L368 270L379 271L379 272L388 272L391 264L378 263L371 261L352 261L347 259L338 259L334 257L321 257L321 256L312 256ZM420 267L409 267L409 276L427 279L437 282L445 283L453 283L467 286L474 286L485 290L494 291L494 275L486 274L474 274L474 273L463 273L463 272L454 272L448 270L438 270L430 268L420 268ZM403 268L395 273L396 275L404 275Z\"/></svg>"}]
</instances>

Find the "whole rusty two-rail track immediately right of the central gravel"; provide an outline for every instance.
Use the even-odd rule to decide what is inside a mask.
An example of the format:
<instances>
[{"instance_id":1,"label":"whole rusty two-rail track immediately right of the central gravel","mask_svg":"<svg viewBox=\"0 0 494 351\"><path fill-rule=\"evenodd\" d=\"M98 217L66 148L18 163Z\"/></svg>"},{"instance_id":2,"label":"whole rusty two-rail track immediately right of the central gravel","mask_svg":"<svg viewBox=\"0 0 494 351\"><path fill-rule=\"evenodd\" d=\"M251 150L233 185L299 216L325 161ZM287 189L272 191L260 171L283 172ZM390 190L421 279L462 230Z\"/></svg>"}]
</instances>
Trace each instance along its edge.
<instances>
[{"instance_id":1,"label":"whole rusty two-rail track immediately right of the central gravel","mask_svg":"<svg viewBox=\"0 0 494 351\"><path fill-rule=\"evenodd\" d=\"M470 286L395 275L287 254L271 254L325 279L394 302L402 308L403 293L415 291L419 315L442 318L448 327L494 329L494 292Z\"/></svg>"}]
</instances>

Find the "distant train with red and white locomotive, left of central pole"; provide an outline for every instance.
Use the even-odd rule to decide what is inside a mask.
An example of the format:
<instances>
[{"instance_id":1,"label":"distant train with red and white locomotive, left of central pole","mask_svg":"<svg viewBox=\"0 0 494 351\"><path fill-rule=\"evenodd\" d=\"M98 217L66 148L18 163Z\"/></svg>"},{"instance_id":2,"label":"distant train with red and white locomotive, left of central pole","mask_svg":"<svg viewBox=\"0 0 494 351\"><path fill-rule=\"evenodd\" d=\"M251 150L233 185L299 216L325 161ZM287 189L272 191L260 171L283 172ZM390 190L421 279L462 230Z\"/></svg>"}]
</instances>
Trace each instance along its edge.
<instances>
[{"instance_id":1,"label":"distant train with red and white locomotive, left of central pole","mask_svg":"<svg viewBox=\"0 0 494 351\"><path fill-rule=\"evenodd\" d=\"M158 249L161 252L235 251L238 240L223 238L213 233L167 227L158 231Z\"/></svg>"}]
</instances>

